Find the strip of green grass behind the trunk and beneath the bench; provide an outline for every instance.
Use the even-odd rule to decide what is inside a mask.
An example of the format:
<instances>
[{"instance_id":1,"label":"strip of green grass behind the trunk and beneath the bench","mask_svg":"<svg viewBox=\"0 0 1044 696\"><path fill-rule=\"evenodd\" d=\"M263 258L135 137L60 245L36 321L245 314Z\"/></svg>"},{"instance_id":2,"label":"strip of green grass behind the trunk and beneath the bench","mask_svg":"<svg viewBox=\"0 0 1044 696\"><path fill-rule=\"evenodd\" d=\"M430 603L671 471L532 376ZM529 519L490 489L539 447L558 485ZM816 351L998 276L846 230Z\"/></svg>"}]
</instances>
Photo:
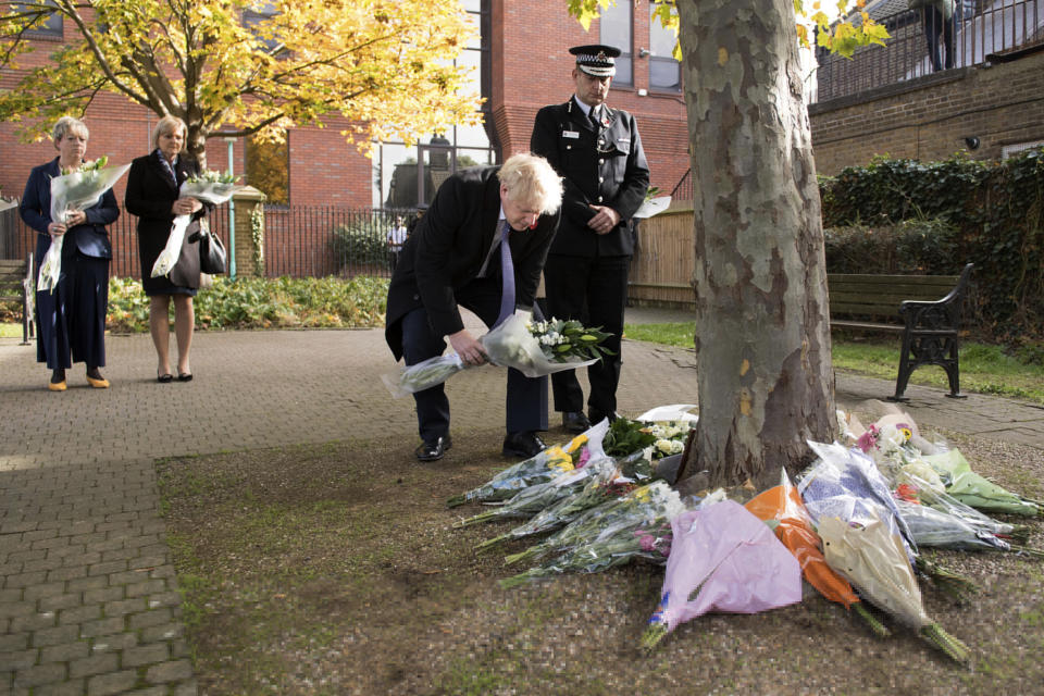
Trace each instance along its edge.
<instances>
[{"instance_id":1,"label":"strip of green grass behind the trunk and beneath the bench","mask_svg":"<svg viewBox=\"0 0 1044 696\"><path fill-rule=\"evenodd\" d=\"M627 324L624 335L669 346L692 348L696 327L692 322ZM899 365L899 338L833 336L834 369L894 381ZM948 388L946 373L933 365L920 368L910 384ZM1044 364L1030 364L1004 352L1000 346L962 343L960 389L994 394L1044 403Z\"/></svg>"}]
</instances>

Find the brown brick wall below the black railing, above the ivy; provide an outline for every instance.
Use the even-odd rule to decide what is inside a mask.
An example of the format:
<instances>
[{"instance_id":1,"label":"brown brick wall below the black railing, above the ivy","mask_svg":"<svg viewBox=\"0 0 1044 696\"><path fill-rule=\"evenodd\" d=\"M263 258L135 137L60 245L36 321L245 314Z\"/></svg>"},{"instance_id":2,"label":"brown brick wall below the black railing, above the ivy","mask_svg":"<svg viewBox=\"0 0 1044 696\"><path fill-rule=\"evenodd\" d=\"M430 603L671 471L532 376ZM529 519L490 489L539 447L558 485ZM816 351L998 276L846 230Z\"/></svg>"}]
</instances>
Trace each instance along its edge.
<instances>
[{"instance_id":1,"label":"brown brick wall below the black railing, above the ivy","mask_svg":"<svg viewBox=\"0 0 1044 696\"><path fill-rule=\"evenodd\" d=\"M944 160L980 147L974 159L999 159L1006 145L1044 140L1044 51L991 67L935 73L809 108L816 169L836 174L875 154Z\"/></svg>"}]
</instances>

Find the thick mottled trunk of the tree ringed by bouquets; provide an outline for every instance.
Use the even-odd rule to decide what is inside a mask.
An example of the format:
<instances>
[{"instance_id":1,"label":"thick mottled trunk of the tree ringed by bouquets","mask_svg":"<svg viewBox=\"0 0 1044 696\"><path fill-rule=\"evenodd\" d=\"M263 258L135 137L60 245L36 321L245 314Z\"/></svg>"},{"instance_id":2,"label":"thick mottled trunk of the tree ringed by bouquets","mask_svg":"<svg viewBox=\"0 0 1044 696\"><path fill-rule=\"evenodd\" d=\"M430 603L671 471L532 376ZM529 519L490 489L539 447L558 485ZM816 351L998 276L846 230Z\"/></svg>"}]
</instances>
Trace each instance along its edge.
<instances>
[{"instance_id":1,"label":"thick mottled trunk of the tree ringed by bouquets","mask_svg":"<svg viewBox=\"0 0 1044 696\"><path fill-rule=\"evenodd\" d=\"M696 460L779 482L833 438L819 188L793 0L679 0L695 189Z\"/></svg>"}]
</instances>

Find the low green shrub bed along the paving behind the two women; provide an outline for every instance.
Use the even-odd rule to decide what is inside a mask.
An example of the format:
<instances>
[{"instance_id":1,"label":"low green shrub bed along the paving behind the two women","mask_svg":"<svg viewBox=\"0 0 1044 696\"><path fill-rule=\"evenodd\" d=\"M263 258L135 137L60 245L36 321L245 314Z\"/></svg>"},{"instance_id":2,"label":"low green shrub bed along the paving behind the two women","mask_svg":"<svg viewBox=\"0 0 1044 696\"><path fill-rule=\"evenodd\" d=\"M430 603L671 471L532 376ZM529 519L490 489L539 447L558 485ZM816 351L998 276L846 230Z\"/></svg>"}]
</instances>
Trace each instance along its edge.
<instances>
[{"instance_id":1,"label":"low green shrub bed along the paving behind the two women","mask_svg":"<svg viewBox=\"0 0 1044 696\"><path fill-rule=\"evenodd\" d=\"M361 327L384 323L388 281L344 278L214 278L196 296L198 328ZM149 298L132 278L109 282L108 327L149 331Z\"/></svg>"}]
</instances>

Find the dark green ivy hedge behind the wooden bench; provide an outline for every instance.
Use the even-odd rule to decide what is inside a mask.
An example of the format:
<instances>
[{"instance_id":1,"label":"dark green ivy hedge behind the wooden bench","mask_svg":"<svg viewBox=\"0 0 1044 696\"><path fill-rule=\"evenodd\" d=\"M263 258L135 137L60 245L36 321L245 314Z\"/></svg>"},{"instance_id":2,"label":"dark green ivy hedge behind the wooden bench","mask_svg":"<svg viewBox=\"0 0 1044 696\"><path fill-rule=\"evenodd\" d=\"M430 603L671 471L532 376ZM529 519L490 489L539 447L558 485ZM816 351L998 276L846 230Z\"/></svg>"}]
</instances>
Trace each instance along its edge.
<instances>
[{"instance_id":1,"label":"dark green ivy hedge behind the wooden bench","mask_svg":"<svg viewBox=\"0 0 1044 696\"><path fill-rule=\"evenodd\" d=\"M1044 335L1044 148L1004 162L878 158L822 177L820 191L828 272L862 259L956 275L971 262L977 332ZM854 248L838 250L841 239Z\"/></svg>"}]
</instances>

